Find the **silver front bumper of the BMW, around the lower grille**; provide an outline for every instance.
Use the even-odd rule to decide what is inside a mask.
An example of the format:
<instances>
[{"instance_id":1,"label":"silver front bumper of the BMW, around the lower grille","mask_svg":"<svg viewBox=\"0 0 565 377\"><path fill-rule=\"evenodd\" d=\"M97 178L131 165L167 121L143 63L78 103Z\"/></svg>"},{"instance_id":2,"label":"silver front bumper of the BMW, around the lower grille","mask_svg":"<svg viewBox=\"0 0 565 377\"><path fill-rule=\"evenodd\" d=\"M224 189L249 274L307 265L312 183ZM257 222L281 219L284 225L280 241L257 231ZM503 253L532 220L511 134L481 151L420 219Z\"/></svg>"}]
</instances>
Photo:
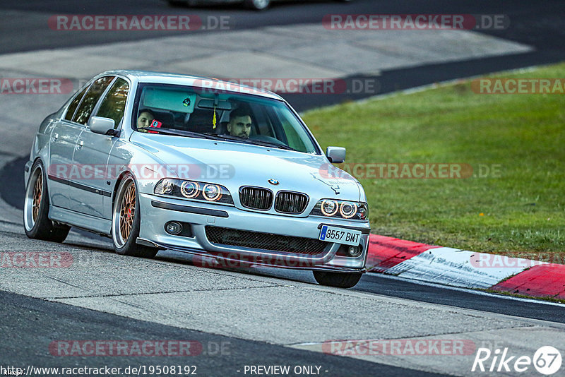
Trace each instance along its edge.
<instances>
[{"instance_id":1,"label":"silver front bumper of the BMW, around the lower grille","mask_svg":"<svg viewBox=\"0 0 565 377\"><path fill-rule=\"evenodd\" d=\"M331 270L364 273L369 246L369 223L316 216L292 217L240 210L228 205L195 203L140 193L141 229L138 243L160 249L214 258L227 267L269 265L303 270ZM169 221L188 223L193 237L173 236L165 232ZM240 229L248 232L277 234L317 240L321 225L350 227L362 231L362 253L356 258L336 255L340 244L327 243L322 253L307 255L294 252L255 249L213 244L206 237L206 226Z\"/></svg>"}]
</instances>

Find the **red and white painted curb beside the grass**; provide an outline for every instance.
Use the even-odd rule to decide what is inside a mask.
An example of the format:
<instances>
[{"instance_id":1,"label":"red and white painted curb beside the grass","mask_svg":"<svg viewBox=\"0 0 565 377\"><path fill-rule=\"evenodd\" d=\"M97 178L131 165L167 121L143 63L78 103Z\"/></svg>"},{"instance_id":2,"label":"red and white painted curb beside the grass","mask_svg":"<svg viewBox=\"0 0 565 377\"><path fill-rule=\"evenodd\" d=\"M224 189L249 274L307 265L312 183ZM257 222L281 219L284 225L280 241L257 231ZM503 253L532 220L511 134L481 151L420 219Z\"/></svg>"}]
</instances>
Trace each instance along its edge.
<instances>
[{"instance_id":1,"label":"red and white painted curb beside the grass","mask_svg":"<svg viewBox=\"0 0 565 377\"><path fill-rule=\"evenodd\" d=\"M367 270L406 279L565 299L565 265L371 234Z\"/></svg>"}]
</instances>

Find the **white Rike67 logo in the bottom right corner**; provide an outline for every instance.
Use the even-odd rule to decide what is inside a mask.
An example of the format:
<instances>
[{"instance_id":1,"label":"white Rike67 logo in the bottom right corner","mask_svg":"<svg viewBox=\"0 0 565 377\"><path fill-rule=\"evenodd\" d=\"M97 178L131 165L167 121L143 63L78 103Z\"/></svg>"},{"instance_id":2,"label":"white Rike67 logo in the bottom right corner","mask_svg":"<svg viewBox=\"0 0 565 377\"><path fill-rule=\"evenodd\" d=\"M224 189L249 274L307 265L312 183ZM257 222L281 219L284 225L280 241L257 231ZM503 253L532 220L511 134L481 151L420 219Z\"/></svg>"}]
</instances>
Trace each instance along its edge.
<instances>
[{"instance_id":1,"label":"white Rike67 logo in the bottom right corner","mask_svg":"<svg viewBox=\"0 0 565 377\"><path fill-rule=\"evenodd\" d=\"M533 365L538 372L550 376L559 371L561 361L561 353L551 346L540 347L533 357L511 355L508 347L495 349L494 352L488 348L479 348L471 371L522 373L530 370Z\"/></svg>"}]
</instances>

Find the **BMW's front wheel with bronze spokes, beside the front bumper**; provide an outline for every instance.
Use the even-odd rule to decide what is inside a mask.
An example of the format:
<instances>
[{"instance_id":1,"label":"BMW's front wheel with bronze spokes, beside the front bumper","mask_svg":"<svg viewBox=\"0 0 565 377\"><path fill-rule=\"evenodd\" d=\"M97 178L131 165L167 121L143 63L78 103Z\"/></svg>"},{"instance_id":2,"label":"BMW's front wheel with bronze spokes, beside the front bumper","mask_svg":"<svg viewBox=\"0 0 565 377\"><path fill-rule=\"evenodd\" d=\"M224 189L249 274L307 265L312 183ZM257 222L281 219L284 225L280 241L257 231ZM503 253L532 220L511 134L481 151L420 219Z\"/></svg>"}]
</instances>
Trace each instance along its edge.
<instances>
[{"instance_id":1,"label":"BMW's front wheel with bronze spokes, beside the front bumper","mask_svg":"<svg viewBox=\"0 0 565 377\"><path fill-rule=\"evenodd\" d=\"M131 188L133 187L133 193ZM135 198L133 203L133 215L131 215L131 202L129 207L129 217L122 210L124 203L124 196L129 194L129 198ZM126 212L127 212L126 210ZM121 218L123 216L123 218ZM127 222L127 226L124 226ZM153 258L157 255L157 249L149 246L136 244L136 239L139 237L139 226L141 224L141 211L139 210L139 194L137 190L136 180L133 175L126 173L119 183L114 199L114 206L112 208L112 243L114 244L114 251L123 256L138 256L141 258ZM126 238L124 239L124 236Z\"/></svg>"}]
</instances>

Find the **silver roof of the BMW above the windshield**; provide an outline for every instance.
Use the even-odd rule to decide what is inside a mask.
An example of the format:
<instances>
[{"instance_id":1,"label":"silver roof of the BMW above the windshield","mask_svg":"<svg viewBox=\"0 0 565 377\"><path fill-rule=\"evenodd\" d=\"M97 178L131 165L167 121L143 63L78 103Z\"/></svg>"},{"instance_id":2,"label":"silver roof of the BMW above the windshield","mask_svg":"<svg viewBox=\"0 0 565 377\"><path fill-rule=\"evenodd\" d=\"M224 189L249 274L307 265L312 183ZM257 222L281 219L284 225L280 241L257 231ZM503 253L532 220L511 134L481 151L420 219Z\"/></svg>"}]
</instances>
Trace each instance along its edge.
<instances>
[{"instance_id":1,"label":"silver roof of the BMW above the windshield","mask_svg":"<svg viewBox=\"0 0 565 377\"><path fill-rule=\"evenodd\" d=\"M97 76L107 76L112 74L126 76L132 82L138 82L138 83L188 85L188 86L196 86L200 88L210 88L212 90L222 90L227 92L258 95L260 97L266 97L273 100L283 101L283 98L280 97L280 95L277 95L273 92L269 92L268 90L254 88L248 85L242 85L230 81L220 80L218 78L189 76L189 75L181 75L178 73L167 73L167 72L131 71L126 69L105 71Z\"/></svg>"}]
</instances>

